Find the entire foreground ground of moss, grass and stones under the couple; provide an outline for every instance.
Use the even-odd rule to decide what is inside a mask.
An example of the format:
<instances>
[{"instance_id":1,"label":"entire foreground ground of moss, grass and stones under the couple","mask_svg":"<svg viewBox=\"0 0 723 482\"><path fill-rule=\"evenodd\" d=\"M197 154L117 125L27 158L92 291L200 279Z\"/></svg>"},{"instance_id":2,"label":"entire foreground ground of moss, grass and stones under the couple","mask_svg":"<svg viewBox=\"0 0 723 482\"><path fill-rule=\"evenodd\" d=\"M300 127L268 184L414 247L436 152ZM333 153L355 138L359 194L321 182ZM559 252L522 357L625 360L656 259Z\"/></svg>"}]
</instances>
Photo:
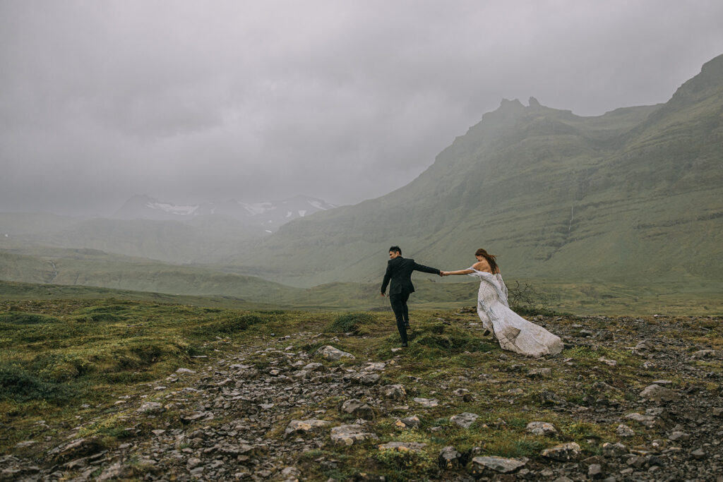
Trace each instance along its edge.
<instances>
[{"instance_id":1,"label":"entire foreground ground of moss, grass and stones under the couple","mask_svg":"<svg viewBox=\"0 0 723 482\"><path fill-rule=\"evenodd\" d=\"M530 317L560 356L470 309L398 350L386 312L4 299L0 479L717 480L719 317Z\"/></svg>"}]
</instances>

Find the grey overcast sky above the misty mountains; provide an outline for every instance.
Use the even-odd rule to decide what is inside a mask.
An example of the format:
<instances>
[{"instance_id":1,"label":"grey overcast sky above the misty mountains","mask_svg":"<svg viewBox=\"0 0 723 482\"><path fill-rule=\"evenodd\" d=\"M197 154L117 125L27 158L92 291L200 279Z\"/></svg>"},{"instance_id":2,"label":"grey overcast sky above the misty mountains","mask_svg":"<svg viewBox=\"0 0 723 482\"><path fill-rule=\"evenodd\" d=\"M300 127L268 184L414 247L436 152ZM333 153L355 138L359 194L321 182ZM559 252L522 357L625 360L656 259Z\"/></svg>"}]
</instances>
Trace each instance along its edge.
<instances>
[{"instance_id":1,"label":"grey overcast sky above the misty mountains","mask_svg":"<svg viewBox=\"0 0 723 482\"><path fill-rule=\"evenodd\" d=\"M502 98L665 102L721 25L719 0L0 0L0 210L354 204Z\"/></svg>"}]
</instances>

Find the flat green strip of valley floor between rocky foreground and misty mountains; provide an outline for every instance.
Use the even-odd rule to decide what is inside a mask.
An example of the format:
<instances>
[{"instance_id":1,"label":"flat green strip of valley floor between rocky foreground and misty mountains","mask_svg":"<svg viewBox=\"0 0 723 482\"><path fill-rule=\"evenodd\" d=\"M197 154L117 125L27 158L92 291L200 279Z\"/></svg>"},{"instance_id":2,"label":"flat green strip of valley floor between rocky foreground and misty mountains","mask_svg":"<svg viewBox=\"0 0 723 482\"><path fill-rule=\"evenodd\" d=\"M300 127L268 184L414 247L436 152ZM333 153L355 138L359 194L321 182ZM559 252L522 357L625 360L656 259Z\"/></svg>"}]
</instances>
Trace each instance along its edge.
<instances>
[{"instance_id":1,"label":"flat green strip of valley floor between rocky foreground and misty mountains","mask_svg":"<svg viewBox=\"0 0 723 482\"><path fill-rule=\"evenodd\" d=\"M45 264L50 267L51 265ZM103 280L118 275L108 271L112 264L104 264L106 271L98 272L100 284ZM136 264L136 269L141 265ZM166 267L168 267L166 265ZM165 268L164 268L165 269ZM132 266L124 267L122 272L132 272ZM102 275L101 275L102 274ZM139 274L130 275L137 277ZM140 275L153 278L153 272ZM200 275L199 275L200 276ZM454 309L457 306L476 304L478 283L471 278L462 278L458 283L440 283L439 278L415 280L416 293L410 299L412 309ZM169 280L175 279L173 276ZM202 278L197 278L198 280ZM85 298L102 299L114 297L127 300L153 301L159 303L194 304L197 306L218 306L237 309L304 309L308 311L390 311L385 298L379 296L378 283L331 283L315 288L298 289L283 287L269 291L265 282L256 284L247 277L244 285L236 288L224 287L222 293L235 291L236 295L175 295L158 292L114 290L80 285L32 284L0 281L0 298L9 299L56 299ZM188 280L179 278L183 285ZM685 314L716 315L723 313L723 298L715 283L704 280L659 280L654 286L633 278L620 283L605 283L596 278L583 281L540 280L508 278L510 303L524 314L552 314L552 311L574 314ZM212 280L204 283L212 285ZM175 282L174 282L175 283ZM222 285L223 283L221 283ZM233 284L233 283L231 283ZM158 288L161 288L160 286ZM278 286L276 287L278 288ZM531 299L515 301L516 289L531 288ZM212 290L213 291L213 290ZM549 311L552 310L552 311Z\"/></svg>"}]
</instances>

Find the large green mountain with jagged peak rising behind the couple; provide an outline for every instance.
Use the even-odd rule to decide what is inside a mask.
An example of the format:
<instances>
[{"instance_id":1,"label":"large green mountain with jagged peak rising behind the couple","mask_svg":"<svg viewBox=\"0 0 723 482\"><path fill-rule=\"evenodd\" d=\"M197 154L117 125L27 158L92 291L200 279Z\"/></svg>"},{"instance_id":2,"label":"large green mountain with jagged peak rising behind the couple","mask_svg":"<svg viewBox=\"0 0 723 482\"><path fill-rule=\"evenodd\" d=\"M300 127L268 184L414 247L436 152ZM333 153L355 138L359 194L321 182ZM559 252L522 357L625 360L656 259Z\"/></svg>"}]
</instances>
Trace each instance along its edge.
<instances>
[{"instance_id":1,"label":"large green mountain with jagged peak rising behind the couple","mask_svg":"<svg viewBox=\"0 0 723 482\"><path fill-rule=\"evenodd\" d=\"M503 100L397 191L296 220L225 269L380 280L392 244L441 269L485 247L509 277L723 283L723 56L657 106L602 116Z\"/></svg>"}]
</instances>

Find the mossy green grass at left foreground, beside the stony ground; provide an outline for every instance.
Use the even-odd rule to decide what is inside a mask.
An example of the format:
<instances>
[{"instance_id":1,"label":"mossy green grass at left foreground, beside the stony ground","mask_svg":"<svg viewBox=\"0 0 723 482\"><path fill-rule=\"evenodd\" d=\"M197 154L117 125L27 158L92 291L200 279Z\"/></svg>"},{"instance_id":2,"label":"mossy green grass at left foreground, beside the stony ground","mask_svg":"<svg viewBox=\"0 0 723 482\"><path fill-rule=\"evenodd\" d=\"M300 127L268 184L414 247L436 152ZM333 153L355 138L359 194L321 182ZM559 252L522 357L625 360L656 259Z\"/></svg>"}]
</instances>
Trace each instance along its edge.
<instances>
[{"instance_id":1,"label":"mossy green grass at left foreground, beside the stony ground","mask_svg":"<svg viewBox=\"0 0 723 482\"><path fill-rule=\"evenodd\" d=\"M286 316L117 299L15 300L0 309L1 411L20 426L62 421L83 403L193 366L254 324Z\"/></svg>"}]
</instances>

